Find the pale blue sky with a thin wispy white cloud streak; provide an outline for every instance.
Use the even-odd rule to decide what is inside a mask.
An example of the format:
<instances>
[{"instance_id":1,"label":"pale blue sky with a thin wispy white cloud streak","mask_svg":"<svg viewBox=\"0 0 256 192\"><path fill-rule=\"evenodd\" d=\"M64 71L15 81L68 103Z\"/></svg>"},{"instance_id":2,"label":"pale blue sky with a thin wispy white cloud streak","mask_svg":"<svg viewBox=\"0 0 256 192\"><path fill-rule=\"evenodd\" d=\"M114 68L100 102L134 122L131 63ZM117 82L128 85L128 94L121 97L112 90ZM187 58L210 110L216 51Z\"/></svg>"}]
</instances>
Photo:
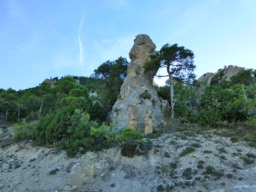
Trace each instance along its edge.
<instances>
[{"instance_id":1,"label":"pale blue sky with a thin wispy white cloud streak","mask_svg":"<svg viewBox=\"0 0 256 192\"><path fill-rule=\"evenodd\" d=\"M256 68L255 10L255 0L1 0L0 88L90 76L104 61L129 59L140 33L157 49L193 50L197 77L227 65Z\"/></svg>"}]
</instances>

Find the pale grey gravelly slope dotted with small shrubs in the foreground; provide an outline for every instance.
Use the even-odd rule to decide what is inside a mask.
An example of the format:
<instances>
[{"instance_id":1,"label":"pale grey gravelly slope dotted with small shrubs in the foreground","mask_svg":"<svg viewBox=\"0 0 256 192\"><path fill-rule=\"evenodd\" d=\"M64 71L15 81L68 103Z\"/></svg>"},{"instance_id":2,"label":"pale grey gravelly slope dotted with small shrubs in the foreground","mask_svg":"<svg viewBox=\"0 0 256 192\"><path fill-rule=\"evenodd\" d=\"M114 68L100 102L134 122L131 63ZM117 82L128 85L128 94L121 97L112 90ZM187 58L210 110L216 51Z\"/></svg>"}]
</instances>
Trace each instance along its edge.
<instances>
[{"instance_id":1,"label":"pale grey gravelly slope dotted with small shrubs in the foreground","mask_svg":"<svg viewBox=\"0 0 256 192\"><path fill-rule=\"evenodd\" d=\"M0 191L256 191L256 148L221 131L177 131L152 139L148 154L120 148L67 158L57 148L12 143L0 128Z\"/></svg>"}]
</instances>

